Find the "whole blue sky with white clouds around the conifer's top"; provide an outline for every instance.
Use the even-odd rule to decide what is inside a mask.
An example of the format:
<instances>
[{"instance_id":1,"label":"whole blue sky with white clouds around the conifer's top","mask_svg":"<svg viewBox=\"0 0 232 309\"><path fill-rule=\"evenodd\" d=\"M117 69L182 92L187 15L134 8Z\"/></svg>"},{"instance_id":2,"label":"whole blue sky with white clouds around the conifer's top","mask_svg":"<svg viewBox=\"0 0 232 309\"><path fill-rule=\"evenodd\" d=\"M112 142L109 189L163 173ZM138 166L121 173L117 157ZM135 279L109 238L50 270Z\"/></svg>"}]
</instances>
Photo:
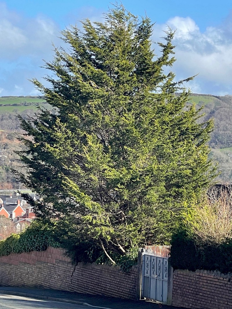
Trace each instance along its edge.
<instances>
[{"instance_id":1,"label":"whole blue sky with white clouds around the conifer's top","mask_svg":"<svg viewBox=\"0 0 232 309\"><path fill-rule=\"evenodd\" d=\"M176 29L173 71L178 79L198 74L189 83L195 93L232 95L232 3L208 1L123 1L135 15L155 22L153 40L169 25ZM105 0L0 0L0 96L37 95L28 81L49 72L43 59L53 58L59 32L83 18L101 20L111 6ZM156 50L156 46L154 45ZM158 50L157 50L158 53Z\"/></svg>"}]
</instances>

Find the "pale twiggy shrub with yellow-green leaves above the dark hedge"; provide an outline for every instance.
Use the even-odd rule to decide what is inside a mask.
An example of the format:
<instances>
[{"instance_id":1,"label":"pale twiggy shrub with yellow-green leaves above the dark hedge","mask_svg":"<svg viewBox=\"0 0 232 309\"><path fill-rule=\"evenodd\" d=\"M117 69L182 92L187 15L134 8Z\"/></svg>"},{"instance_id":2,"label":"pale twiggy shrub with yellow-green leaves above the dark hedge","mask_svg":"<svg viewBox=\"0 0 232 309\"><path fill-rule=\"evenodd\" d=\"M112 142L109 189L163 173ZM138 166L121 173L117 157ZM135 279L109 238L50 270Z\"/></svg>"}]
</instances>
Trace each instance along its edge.
<instances>
[{"instance_id":1,"label":"pale twiggy shrub with yellow-green leaves above the dark hedge","mask_svg":"<svg viewBox=\"0 0 232 309\"><path fill-rule=\"evenodd\" d=\"M185 202L184 222L198 244L221 244L232 239L232 190L213 187L200 202Z\"/></svg>"}]
</instances>

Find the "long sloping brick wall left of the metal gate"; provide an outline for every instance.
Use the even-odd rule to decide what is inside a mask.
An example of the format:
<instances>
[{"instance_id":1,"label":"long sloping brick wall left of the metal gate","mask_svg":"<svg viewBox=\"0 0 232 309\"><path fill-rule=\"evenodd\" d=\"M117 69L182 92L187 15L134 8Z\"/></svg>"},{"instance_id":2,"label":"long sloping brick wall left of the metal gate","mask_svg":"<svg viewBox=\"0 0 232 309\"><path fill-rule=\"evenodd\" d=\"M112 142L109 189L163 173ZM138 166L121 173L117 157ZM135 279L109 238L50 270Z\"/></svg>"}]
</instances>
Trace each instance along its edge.
<instances>
[{"instance_id":1,"label":"long sloping brick wall left of the metal gate","mask_svg":"<svg viewBox=\"0 0 232 309\"><path fill-rule=\"evenodd\" d=\"M74 266L60 248L0 257L0 285L29 286L136 299L137 267L129 274L110 265Z\"/></svg>"}]
</instances>

